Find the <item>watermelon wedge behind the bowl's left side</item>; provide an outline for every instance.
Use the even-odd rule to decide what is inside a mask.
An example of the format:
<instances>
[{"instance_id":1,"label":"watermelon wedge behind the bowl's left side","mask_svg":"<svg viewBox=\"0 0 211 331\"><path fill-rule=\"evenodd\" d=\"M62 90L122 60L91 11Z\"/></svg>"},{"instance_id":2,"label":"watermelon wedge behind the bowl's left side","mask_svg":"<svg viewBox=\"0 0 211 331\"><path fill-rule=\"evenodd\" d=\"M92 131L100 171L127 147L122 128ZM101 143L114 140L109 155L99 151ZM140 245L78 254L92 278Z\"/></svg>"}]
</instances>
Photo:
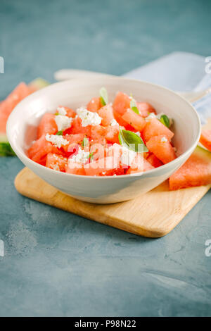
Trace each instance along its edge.
<instances>
[{"instance_id":1,"label":"watermelon wedge behind the bowl's left side","mask_svg":"<svg viewBox=\"0 0 211 331\"><path fill-rule=\"evenodd\" d=\"M8 116L11 114L15 106L25 99L26 96L30 95L32 92L46 87L49 85L46 80L42 78L37 78L33 80L29 85L25 82L20 82L20 84L13 89L13 92L9 94L4 101L0 103L0 156L15 156L13 149L8 142L6 137L6 123Z\"/></svg>"}]
</instances>

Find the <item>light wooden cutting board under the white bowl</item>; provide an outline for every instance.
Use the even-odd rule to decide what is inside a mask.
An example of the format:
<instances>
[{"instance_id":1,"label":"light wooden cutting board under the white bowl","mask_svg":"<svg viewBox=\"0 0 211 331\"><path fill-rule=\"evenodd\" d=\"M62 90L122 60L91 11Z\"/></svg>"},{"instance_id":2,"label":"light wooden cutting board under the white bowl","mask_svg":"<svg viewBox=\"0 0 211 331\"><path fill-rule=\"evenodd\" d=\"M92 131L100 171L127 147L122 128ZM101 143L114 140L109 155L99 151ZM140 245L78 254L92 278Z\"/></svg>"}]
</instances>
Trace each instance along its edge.
<instances>
[{"instance_id":1,"label":"light wooden cutting board under the white bowl","mask_svg":"<svg viewBox=\"0 0 211 331\"><path fill-rule=\"evenodd\" d=\"M164 182L131 201L107 205L89 204L59 192L28 168L18 173L15 187L20 194L30 199L136 235L154 238L172 231L210 189L210 186L202 186L170 192L168 182Z\"/></svg>"}]
</instances>

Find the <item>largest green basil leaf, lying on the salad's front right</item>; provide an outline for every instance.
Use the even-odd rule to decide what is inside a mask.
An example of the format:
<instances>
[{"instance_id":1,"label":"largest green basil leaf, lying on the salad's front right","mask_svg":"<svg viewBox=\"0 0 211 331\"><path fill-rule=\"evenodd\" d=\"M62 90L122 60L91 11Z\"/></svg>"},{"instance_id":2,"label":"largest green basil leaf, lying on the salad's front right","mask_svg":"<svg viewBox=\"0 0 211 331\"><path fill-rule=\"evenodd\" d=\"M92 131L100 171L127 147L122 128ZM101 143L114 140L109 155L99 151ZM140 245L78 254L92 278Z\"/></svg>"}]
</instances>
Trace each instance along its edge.
<instances>
[{"instance_id":1,"label":"largest green basil leaf, lying on the salad's front right","mask_svg":"<svg viewBox=\"0 0 211 331\"><path fill-rule=\"evenodd\" d=\"M131 149L132 151L136 151L138 153L143 153L148 151L145 144L143 144L143 140L141 137L136 135L135 132L129 130L122 130L120 129L119 133L119 142L122 146L127 147L127 149ZM141 151L140 151L140 144L141 144Z\"/></svg>"}]
</instances>

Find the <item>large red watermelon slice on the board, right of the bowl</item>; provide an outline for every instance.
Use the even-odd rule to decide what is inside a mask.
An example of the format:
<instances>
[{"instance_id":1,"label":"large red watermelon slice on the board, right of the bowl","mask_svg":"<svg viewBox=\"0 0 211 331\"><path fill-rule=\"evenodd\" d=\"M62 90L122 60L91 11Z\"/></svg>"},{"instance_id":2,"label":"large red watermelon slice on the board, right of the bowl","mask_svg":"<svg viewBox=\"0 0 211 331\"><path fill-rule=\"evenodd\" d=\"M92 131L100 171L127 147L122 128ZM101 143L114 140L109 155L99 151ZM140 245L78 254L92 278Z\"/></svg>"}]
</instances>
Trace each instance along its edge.
<instances>
[{"instance_id":1,"label":"large red watermelon slice on the board, right of the bowl","mask_svg":"<svg viewBox=\"0 0 211 331\"><path fill-rule=\"evenodd\" d=\"M186 163L170 176L170 189L211 184L211 153L197 146Z\"/></svg>"}]
</instances>

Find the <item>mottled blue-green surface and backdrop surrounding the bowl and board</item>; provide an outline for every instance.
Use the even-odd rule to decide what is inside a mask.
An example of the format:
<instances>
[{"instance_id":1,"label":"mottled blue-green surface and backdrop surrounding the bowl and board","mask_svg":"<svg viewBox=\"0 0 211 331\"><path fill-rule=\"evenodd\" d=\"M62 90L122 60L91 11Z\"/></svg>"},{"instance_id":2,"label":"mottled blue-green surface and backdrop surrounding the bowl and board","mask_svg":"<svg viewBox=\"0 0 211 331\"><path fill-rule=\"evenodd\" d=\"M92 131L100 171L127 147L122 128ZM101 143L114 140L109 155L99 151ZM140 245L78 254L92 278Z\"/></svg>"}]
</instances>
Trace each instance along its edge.
<instances>
[{"instance_id":1,"label":"mottled blue-green surface and backdrop surrounding the bowl and board","mask_svg":"<svg viewBox=\"0 0 211 331\"><path fill-rule=\"evenodd\" d=\"M60 68L122 75L172 51L211 55L210 1L1 0L0 99ZM194 75L194 73L193 73ZM210 316L208 193L146 239L20 196L0 159L0 316Z\"/></svg>"}]
</instances>

